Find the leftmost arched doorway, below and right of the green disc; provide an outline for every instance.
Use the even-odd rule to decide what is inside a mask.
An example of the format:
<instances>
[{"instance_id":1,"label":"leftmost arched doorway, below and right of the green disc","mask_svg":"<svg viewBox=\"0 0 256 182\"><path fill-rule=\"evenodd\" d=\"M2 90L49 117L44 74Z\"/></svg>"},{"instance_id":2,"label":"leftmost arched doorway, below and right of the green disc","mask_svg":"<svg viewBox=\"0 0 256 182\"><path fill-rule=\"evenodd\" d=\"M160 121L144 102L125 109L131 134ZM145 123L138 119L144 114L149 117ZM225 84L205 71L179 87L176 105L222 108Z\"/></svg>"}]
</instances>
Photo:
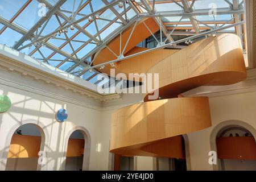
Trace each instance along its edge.
<instances>
[{"instance_id":1,"label":"leftmost arched doorway, below and right of the green disc","mask_svg":"<svg viewBox=\"0 0 256 182\"><path fill-rule=\"evenodd\" d=\"M5 169L7 171L40 170L43 160L39 159L39 151L43 152L44 141L44 132L38 125L27 123L18 127L11 137Z\"/></svg>"}]
</instances>

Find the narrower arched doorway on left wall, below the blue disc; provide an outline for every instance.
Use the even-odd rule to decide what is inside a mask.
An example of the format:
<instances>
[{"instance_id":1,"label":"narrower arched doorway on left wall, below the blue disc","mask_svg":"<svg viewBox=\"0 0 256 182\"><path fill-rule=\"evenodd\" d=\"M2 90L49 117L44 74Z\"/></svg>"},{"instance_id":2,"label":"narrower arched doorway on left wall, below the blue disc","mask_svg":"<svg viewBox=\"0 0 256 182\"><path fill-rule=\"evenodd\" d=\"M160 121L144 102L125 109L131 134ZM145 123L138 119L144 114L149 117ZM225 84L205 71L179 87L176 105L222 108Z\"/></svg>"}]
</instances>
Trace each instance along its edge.
<instances>
[{"instance_id":1,"label":"narrower arched doorway on left wall, below the blue disc","mask_svg":"<svg viewBox=\"0 0 256 182\"><path fill-rule=\"evenodd\" d=\"M89 170L90 136L87 130L77 127L67 140L65 171Z\"/></svg>"}]
</instances>

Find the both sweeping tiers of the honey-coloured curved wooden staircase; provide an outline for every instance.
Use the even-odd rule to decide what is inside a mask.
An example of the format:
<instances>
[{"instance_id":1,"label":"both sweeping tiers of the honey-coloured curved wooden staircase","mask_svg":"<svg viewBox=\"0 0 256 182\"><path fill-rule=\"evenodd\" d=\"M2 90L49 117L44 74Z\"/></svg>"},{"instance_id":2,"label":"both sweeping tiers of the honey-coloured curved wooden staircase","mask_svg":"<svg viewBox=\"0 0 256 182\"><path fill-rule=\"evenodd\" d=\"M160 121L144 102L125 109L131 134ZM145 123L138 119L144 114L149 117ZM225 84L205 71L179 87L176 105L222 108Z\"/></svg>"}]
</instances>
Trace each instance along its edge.
<instances>
[{"instance_id":1,"label":"both sweeping tiers of the honey-coloured curved wooden staircase","mask_svg":"<svg viewBox=\"0 0 256 182\"><path fill-rule=\"evenodd\" d=\"M160 52L166 53L160 56ZM151 57L154 65L143 67L143 57ZM144 103L113 113L110 151L121 155L184 158L180 135L211 126L209 102L207 97L175 97L198 86L228 85L246 78L241 41L234 34L203 39L180 51L146 53L130 61L136 63L135 68L121 61L116 65L118 72L159 73L162 100L150 101L146 94ZM141 66L136 70L137 65Z\"/></svg>"}]
</instances>

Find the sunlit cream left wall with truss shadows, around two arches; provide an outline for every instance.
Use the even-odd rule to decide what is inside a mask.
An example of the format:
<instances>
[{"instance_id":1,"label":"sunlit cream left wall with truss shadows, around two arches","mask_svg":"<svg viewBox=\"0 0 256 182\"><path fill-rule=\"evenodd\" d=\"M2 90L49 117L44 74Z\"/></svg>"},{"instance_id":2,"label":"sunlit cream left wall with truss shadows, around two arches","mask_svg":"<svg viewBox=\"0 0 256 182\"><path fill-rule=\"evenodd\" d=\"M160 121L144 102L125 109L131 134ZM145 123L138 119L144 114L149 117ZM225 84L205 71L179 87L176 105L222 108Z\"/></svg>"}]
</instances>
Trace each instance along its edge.
<instances>
[{"instance_id":1,"label":"sunlit cream left wall with truss shadows, around two arches","mask_svg":"<svg viewBox=\"0 0 256 182\"><path fill-rule=\"evenodd\" d=\"M0 169L5 169L6 155L4 154L9 150L10 144L8 138L11 138L11 135L22 123L30 121L38 123L46 135L47 164L44 169L64 169L63 161L67 150L65 148L67 140L69 134L71 134L70 132L78 126L85 128L91 138L89 169L99 169L98 158L100 152L96 152L96 146L100 140L99 130L101 127L101 107L98 107L100 105L99 102L88 99L85 96L81 98L81 95L72 91L55 88L54 85L38 82L1 69L0 78L1 81L11 79L19 83L18 85L13 83L9 85L8 82L0 84L0 94L5 94L12 102L9 111L0 114ZM30 91L24 85L30 86ZM47 94L39 92L39 89L45 90ZM76 100L85 101L85 105L77 104ZM68 110L68 119L64 123L57 122L55 119L56 111L61 108Z\"/></svg>"}]
</instances>

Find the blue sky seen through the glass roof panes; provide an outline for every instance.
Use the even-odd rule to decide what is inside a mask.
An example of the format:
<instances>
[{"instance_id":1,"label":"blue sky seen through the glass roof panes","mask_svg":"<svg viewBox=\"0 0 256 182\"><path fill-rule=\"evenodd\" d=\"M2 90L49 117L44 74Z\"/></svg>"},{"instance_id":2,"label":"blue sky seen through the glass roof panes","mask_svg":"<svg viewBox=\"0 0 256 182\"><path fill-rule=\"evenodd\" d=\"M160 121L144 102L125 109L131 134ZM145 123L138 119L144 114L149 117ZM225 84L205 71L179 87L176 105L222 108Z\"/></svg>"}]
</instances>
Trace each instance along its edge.
<instances>
[{"instance_id":1,"label":"blue sky seen through the glass roof panes","mask_svg":"<svg viewBox=\"0 0 256 182\"><path fill-rule=\"evenodd\" d=\"M20 10L20 8L27 2L28 0L0 0L0 16L6 20L10 20L11 18L13 18L13 16ZM109 3L112 3L114 0L108 0ZM156 0L160 1L160 0ZM51 5L55 5L56 2L58 2L58 0L47 0L47 2L51 3ZM75 2L75 6L74 6L74 2ZM69 19L71 19L72 17L72 12L76 11L79 8L79 5L84 5L82 10L79 11L79 14L75 17L75 19L80 19L82 17L84 17L85 15L88 15L90 13L92 13L92 10L90 8L90 5L88 2L86 2L86 0L67 0L63 5L61 5L60 7L60 13L64 14L65 16L67 16ZM136 0L136 2L141 3L141 1ZM152 2L152 1L151 1ZM163 2L163 1L161 1ZM230 3L233 3L232 0L229 0ZM239 2L242 2L242 0L239 0ZM99 10L102 7L105 6L105 3L102 2L101 0L93 0L91 1L92 3L92 9L93 11ZM177 2L180 5L182 5L181 2ZM189 2L191 3L191 2ZM210 3L215 3L217 8L229 8L229 4L227 2L225 2L224 0L197 0L195 1L195 4L193 5L193 9L195 10L203 10L203 9L209 9L210 8ZM40 17L38 15L38 10L39 10L39 2L37 0L32 0L31 3L29 3L29 5L26 7L26 9L24 11L22 11L22 13L19 14L19 16L17 16L14 21L12 22L13 24L15 24L16 26L22 28L24 31L28 31L30 30L31 27L34 26L34 24L36 24L42 17ZM124 12L124 8L119 8L118 5L114 6L114 9L121 14L121 16L123 17L123 19L126 18L125 14L123 14ZM126 4L126 9L127 9L127 21L131 20L134 18L134 16L137 15L137 13L135 13L135 11L133 9L131 9L130 5ZM146 10L141 9L143 12L146 12ZM170 1L166 1L166 3L156 3L155 5L155 10L156 11L180 11L183 12L181 7L176 5L176 3L172 3ZM48 11L48 9L47 9ZM50 34L52 31L59 29L61 26L63 26L63 24L65 23L65 25L67 24L72 24L71 21L69 22L65 22L65 20L63 18L61 18L60 16L57 16L60 20L61 25L58 22L58 19L56 18L55 15L51 16L51 18L49 19L49 21L47 21L47 24L44 23L42 24L41 27L39 27L38 32L40 32L42 30L42 28L44 28L44 30L42 31L41 36ZM180 16L172 16L172 17L164 17L162 18L164 23L174 23L174 22L178 22L180 20ZM217 15L216 16L216 21L228 21L228 20L232 20L233 15L232 14L226 14L226 15ZM74 19L74 20L75 20ZM196 16L197 20L200 20L202 22L213 22L213 16L209 16L209 15L201 15L201 16ZM115 20L115 22L113 22L113 20ZM82 22L79 23L79 26L81 26L82 28L84 28L86 31L88 31L92 36L96 36L97 39L100 40L106 40L109 35L112 35L114 31L117 31L120 27L123 26L122 24L122 20L117 18L117 15L115 15L113 13L112 10L107 9L105 11L102 11L100 13L100 19L95 20L97 23L97 27L98 27L98 31L100 32L100 36L98 36L98 31L96 28L96 23L92 22L90 23L87 19L83 20ZM190 22L190 20L188 18L183 18L181 20L181 22ZM44 25L46 24L46 26L44 27ZM221 26L222 24L218 24L218 26ZM228 25L228 24L226 24ZM166 24L166 27L174 27L175 24ZM204 28L206 27L204 24L200 24L200 27ZM209 24L209 26L214 27L214 24ZM0 23L0 30L3 28L3 24ZM192 27L191 23L187 24L180 24L177 27ZM231 32L235 32L235 28L229 28L228 30L225 31L231 31ZM60 49L63 52L68 53L69 55L73 55L73 49L79 50L76 51L76 55L79 59L81 59L82 57L84 57L85 55L87 55L89 52L91 52L94 48L97 47L96 42L94 40L91 40L87 35L85 35L85 33L80 32L76 27L74 27L74 30L71 31L68 29L67 33L66 33L67 37L65 36L65 34L60 34L60 35L56 35L56 38L51 38L49 40L47 40L47 42L49 44L52 44L53 46L55 46L57 49ZM10 28L6 28L5 31L2 32L2 34L0 34L0 43L1 44L6 44L9 47L13 47L14 44L16 42L18 42L18 40L20 38L22 38L22 34L19 34L18 32L10 29ZM73 38L75 37L75 38ZM66 38L68 39L73 39L73 40L66 40ZM90 43L88 43L88 41L91 41ZM27 40L26 42L23 43L23 45L26 45L27 43L30 43L30 40ZM72 47L70 46L70 44L72 44ZM51 55L52 53L54 53L54 51L52 51L52 49L47 48L46 46L39 46L38 49L40 51L38 51L36 49L36 47L34 45L32 45L31 47L22 49L21 52L26 53L26 54L30 54L32 57L35 57L36 59L39 60L44 60L45 58L47 58L49 55ZM42 56L42 54L43 56ZM49 57L49 60L46 61L46 63L54 66L54 67L59 67L61 70L63 71L67 71L68 68L72 67L72 65L74 64L73 62L71 62L71 60L68 60L67 62L65 62L64 64L61 64L61 61L63 60L68 60L67 57L61 55L60 53L56 53L52 56ZM88 58L88 60L90 61L90 59ZM75 71L79 71L80 69L83 69L83 67L77 67L75 70L73 70L73 72ZM94 72L86 72L83 76L81 76L82 78L88 78L90 76L92 76L94 74ZM90 80L90 82L96 82L97 79L94 77L92 80ZM100 82L99 85L102 85L102 83L107 82L106 80Z\"/></svg>"}]
</instances>

